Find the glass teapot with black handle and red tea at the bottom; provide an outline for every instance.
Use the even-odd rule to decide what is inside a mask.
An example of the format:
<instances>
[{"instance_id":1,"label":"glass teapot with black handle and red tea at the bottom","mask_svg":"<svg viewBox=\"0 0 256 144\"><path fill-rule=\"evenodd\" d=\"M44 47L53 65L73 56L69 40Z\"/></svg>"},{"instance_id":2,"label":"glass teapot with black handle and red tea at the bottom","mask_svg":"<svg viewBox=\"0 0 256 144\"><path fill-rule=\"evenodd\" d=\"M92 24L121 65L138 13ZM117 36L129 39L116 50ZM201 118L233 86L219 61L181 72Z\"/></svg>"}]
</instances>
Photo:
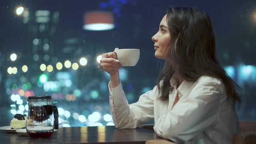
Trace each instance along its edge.
<instances>
[{"instance_id":1,"label":"glass teapot with black handle and red tea at the bottom","mask_svg":"<svg viewBox=\"0 0 256 144\"><path fill-rule=\"evenodd\" d=\"M27 133L30 137L50 137L59 128L59 113L56 105L52 105L52 97L30 96L28 103Z\"/></svg>"}]
</instances>

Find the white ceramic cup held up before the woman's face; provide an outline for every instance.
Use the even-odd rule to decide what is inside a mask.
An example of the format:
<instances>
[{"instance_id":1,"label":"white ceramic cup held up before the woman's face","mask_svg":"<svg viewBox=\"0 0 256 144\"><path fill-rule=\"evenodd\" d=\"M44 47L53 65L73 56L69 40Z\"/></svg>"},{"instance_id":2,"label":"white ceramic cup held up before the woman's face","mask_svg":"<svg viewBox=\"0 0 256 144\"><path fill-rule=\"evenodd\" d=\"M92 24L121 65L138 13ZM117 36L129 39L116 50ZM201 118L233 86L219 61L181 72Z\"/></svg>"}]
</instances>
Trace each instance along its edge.
<instances>
[{"instance_id":1,"label":"white ceramic cup held up before the woman's face","mask_svg":"<svg viewBox=\"0 0 256 144\"><path fill-rule=\"evenodd\" d=\"M135 66L140 58L140 49L118 49L115 52L123 66Z\"/></svg>"}]
</instances>

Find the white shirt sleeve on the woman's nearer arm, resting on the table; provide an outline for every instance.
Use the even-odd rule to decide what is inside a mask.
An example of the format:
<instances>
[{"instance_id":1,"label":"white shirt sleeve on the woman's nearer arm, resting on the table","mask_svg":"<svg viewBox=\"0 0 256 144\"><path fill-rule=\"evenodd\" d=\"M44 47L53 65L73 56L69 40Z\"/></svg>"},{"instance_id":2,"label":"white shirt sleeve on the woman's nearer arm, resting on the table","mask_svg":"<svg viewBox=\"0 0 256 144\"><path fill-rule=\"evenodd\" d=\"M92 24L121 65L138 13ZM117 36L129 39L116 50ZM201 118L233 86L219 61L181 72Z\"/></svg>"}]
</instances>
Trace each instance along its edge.
<instances>
[{"instance_id":1,"label":"white shirt sleeve on the woman's nearer arm, resting on the table","mask_svg":"<svg viewBox=\"0 0 256 144\"><path fill-rule=\"evenodd\" d=\"M188 141L217 121L221 82L198 82L187 98L155 121L155 133L174 142Z\"/></svg>"}]
</instances>

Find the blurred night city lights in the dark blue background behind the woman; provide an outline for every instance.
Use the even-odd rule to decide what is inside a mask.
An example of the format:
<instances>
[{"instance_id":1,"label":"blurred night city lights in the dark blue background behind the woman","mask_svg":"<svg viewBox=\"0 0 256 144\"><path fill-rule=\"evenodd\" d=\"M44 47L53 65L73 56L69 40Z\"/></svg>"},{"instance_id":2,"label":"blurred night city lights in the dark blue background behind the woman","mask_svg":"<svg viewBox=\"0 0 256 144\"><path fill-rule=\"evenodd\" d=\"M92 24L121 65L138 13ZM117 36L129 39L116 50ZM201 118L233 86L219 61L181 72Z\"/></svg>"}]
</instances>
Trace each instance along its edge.
<instances>
[{"instance_id":1,"label":"blurred night city lights in the dark blue background behind the woman","mask_svg":"<svg viewBox=\"0 0 256 144\"><path fill-rule=\"evenodd\" d=\"M256 121L256 0L1 0L0 126L27 114L27 97L43 95L52 96L63 127L113 125L101 55L140 49L137 65L120 69L128 102L138 101L164 64L151 37L168 7L209 14L218 59L243 88L239 119ZM112 13L114 28L85 29L92 11Z\"/></svg>"}]
</instances>

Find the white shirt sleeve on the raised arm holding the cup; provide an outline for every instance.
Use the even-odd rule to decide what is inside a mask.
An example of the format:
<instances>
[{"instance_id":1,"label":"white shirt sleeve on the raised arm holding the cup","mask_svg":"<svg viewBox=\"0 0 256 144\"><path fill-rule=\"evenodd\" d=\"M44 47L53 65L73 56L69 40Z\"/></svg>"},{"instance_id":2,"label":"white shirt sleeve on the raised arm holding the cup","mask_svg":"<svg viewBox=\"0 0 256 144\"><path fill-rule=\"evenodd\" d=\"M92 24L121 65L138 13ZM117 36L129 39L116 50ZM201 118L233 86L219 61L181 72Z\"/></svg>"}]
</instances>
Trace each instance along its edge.
<instances>
[{"instance_id":1,"label":"white shirt sleeve on the raised arm holding the cup","mask_svg":"<svg viewBox=\"0 0 256 144\"><path fill-rule=\"evenodd\" d=\"M115 88L109 88L110 111L116 128L136 128L154 118L154 95L156 87L140 96L131 105L125 97L121 82Z\"/></svg>"}]
</instances>

